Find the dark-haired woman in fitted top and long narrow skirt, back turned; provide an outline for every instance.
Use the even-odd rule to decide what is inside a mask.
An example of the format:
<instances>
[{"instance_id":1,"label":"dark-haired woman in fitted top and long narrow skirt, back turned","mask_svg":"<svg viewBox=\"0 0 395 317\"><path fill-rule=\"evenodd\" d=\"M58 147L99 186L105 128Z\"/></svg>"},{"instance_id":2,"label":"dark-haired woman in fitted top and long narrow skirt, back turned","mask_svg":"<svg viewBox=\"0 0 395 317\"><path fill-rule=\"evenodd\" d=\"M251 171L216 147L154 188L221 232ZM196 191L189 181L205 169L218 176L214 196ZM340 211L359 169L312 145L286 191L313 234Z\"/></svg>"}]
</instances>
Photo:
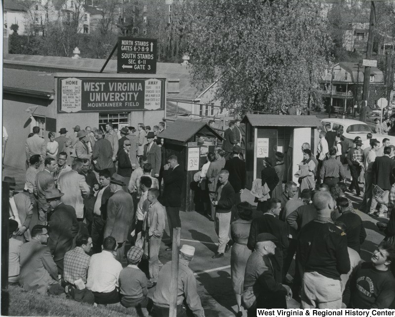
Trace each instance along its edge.
<instances>
[{"instance_id":1,"label":"dark-haired woman in fitted top and long narrow skirt, back turned","mask_svg":"<svg viewBox=\"0 0 395 317\"><path fill-rule=\"evenodd\" d=\"M232 287L236 295L237 315L242 316L241 294L243 292L244 272L251 250L247 247L252 221L251 205L247 201L237 205L238 219L231 224L231 238L235 243L231 252Z\"/></svg>"}]
</instances>

